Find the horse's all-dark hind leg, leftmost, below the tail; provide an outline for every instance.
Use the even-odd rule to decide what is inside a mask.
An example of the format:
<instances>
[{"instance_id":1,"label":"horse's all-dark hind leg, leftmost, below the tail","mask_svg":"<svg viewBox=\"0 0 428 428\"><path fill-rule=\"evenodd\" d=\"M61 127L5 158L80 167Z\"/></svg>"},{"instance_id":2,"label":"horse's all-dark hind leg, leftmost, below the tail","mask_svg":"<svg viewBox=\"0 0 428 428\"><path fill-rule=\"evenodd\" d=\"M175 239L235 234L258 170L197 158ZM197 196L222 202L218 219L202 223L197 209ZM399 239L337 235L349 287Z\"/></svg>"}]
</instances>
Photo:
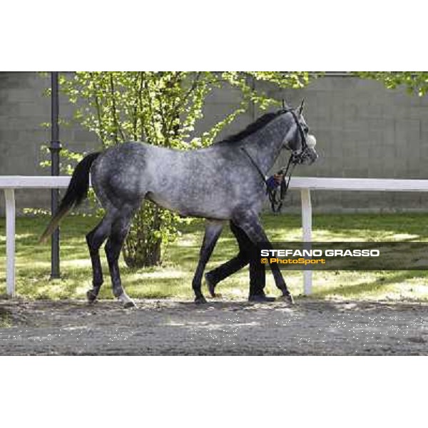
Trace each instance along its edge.
<instances>
[{"instance_id":1,"label":"horse's all-dark hind leg, leftmost, below the tail","mask_svg":"<svg viewBox=\"0 0 428 428\"><path fill-rule=\"evenodd\" d=\"M91 232L86 235L86 243L88 244L89 254L91 255L92 262L92 289L86 292L86 297L88 302L92 303L98 297L98 292L100 291L101 285L103 285L103 270L101 269L101 260L100 260L100 248L103 245L103 242L110 235L111 230L111 217L106 215L103 220L101 220L96 228L91 230Z\"/></svg>"}]
</instances>

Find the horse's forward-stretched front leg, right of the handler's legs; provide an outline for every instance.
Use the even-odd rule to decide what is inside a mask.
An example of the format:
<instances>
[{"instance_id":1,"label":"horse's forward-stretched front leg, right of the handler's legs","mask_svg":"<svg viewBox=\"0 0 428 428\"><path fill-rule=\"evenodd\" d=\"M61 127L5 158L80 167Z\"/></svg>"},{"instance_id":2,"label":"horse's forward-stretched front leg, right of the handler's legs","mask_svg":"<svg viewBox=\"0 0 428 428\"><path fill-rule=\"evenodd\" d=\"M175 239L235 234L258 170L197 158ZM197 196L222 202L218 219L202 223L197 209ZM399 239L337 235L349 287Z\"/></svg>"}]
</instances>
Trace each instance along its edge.
<instances>
[{"instance_id":1,"label":"horse's forward-stretched front leg, right of the handler's legs","mask_svg":"<svg viewBox=\"0 0 428 428\"><path fill-rule=\"evenodd\" d=\"M250 238L257 247L260 243L266 243L267 248L272 248L272 244L267 238L257 214L250 210L240 211L234 215L233 222L244 230L248 235L248 238ZM285 284L285 280L282 277L280 269L275 264L270 265L270 268L272 270L272 275L275 278L275 284L282 292L282 297L284 297L287 302L293 303L292 295L287 289L287 285Z\"/></svg>"}]
</instances>

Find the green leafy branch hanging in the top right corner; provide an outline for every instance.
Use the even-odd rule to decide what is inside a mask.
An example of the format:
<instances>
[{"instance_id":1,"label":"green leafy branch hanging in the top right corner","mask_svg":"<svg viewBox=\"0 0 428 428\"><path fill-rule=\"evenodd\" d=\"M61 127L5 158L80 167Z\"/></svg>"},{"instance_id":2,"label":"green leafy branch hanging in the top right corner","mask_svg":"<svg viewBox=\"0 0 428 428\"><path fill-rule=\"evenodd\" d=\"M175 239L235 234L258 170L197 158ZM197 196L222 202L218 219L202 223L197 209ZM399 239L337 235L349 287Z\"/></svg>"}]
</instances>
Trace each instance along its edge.
<instances>
[{"instance_id":1,"label":"green leafy branch hanging in the top right corner","mask_svg":"<svg viewBox=\"0 0 428 428\"><path fill-rule=\"evenodd\" d=\"M355 74L381 81L389 89L404 86L412 95L424 96L428 92L427 71L359 71Z\"/></svg>"}]
</instances>

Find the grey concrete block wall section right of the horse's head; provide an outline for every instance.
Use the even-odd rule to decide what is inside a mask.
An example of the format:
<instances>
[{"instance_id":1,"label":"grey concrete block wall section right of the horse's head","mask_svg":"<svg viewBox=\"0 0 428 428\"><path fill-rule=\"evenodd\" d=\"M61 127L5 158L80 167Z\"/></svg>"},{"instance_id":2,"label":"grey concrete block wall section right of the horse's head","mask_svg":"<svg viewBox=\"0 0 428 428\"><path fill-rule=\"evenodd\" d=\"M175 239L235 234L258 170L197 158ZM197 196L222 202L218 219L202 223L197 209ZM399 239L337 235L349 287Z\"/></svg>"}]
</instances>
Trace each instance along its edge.
<instances>
[{"instance_id":1,"label":"grey concrete block wall section right of the horse's head","mask_svg":"<svg viewBox=\"0 0 428 428\"><path fill-rule=\"evenodd\" d=\"M269 91L268 91L269 92ZM325 76L300 90L270 91L291 105L305 98L305 119L320 159L295 175L343 178L428 178L428 97L388 90L351 76ZM286 162L284 153L278 165ZM428 210L424 193L313 192L318 212ZM290 193L287 208L297 211Z\"/></svg>"}]
</instances>

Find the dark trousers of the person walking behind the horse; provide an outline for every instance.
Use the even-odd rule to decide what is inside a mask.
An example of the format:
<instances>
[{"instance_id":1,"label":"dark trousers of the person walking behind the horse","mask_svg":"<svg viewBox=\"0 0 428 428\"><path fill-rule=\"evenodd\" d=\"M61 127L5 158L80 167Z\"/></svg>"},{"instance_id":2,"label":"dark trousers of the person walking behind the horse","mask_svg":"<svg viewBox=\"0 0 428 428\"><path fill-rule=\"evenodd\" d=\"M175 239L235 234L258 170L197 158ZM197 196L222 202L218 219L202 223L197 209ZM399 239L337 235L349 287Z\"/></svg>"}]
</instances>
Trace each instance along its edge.
<instances>
[{"instance_id":1,"label":"dark trousers of the person walking behind the horse","mask_svg":"<svg viewBox=\"0 0 428 428\"><path fill-rule=\"evenodd\" d=\"M223 265L210 270L207 275L213 282L218 283L250 263L250 295L263 294L266 285L266 272L265 266L260 263L257 245L253 244L247 234L233 222L230 222L230 230L238 241L238 255Z\"/></svg>"}]
</instances>

